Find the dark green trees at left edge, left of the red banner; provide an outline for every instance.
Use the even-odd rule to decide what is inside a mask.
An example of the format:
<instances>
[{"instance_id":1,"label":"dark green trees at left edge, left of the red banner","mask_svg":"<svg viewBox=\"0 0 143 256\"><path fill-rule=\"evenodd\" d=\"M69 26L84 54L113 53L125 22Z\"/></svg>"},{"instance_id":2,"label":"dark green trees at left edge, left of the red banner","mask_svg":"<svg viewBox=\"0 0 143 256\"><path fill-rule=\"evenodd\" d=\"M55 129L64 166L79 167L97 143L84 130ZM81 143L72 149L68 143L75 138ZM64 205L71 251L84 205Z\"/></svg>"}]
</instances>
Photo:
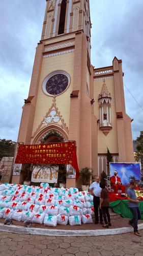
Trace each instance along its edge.
<instances>
[{"instance_id":1,"label":"dark green trees at left edge, left of the red banner","mask_svg":"<svg viewBox=\"0 0 143 256\"><path fill-rule=\"evenodd\" d=\"M13 157L16 142L11 140L0 140L0 159L3 157Z\"/></svg>"}]
</instances>

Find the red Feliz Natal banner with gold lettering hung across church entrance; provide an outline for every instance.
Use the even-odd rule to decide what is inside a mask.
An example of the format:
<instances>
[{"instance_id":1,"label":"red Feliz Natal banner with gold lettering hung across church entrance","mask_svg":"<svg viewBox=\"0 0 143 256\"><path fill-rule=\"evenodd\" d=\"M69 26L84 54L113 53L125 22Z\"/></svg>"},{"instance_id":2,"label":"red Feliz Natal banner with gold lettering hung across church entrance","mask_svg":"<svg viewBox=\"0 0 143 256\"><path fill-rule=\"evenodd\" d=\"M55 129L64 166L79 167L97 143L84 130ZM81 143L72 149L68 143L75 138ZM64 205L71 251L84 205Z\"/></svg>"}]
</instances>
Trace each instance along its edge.
<instances>
[{"instance_id":1,"label":"red Feliz Natal banner with gold lettering hung across church entrance","mask_svg":"<svg viewBox=\"0 0 143 256\"><path fill-rule=\"evenodd\" d=\"M75 141L31 145L20 144L15 163L71 164L76 170L76 178L79 177Z\"/></svg>"}]
</instances>

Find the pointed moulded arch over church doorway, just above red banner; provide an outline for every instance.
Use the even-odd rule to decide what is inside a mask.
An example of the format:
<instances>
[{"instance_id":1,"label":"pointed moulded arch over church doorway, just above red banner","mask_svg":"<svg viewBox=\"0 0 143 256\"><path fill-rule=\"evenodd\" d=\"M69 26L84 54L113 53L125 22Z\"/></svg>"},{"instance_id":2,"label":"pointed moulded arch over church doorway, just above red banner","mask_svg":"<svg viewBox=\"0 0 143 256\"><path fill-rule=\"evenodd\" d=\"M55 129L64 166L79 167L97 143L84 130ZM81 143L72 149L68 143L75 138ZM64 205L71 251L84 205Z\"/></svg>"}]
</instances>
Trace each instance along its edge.
<instances>
[{"instance_id":1,"label":"pointed moulded arch over church doorway, just above red banner","mask_svg":"<svg viewBox=\"0 0 143 256\"><path fill-rule=\"evenodd\" d=\"M56 137L59 137L59 138L61 137L64 142L68 141L68 134L64 130L62 130L59 126L52 124L48 127L47 126L44 127L35 136L33 143L40 144L40 143L44 142L45 137L47 136L47 138L48 138L48 136L52 135L52 133Z\"/></svg>"}]
</instances>

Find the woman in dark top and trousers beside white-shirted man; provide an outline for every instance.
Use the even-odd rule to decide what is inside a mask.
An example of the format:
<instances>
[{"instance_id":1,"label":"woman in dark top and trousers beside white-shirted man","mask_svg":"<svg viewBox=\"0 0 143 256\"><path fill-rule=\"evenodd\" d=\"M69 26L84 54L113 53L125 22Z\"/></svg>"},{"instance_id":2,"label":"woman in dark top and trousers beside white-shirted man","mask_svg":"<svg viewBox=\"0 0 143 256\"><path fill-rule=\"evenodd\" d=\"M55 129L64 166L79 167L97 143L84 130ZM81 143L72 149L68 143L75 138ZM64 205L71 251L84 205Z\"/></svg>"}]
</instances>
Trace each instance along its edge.
<instances>
[{"instance_id":1,"label":"woman in dark top and trousers beside white-shirted man","mask_svg":"<svg viewBox=\"0 0 143 256\"><path fill-rule=\"evenodd\" d=\"M110 223L110 214L109 214L109 198L108 198L108 190L105 187L105 183L100 182L100 187L102 188L100 193L100 205L99 208L102 210L103 218L105 225L103 227L108 228L108 226L111 226ZM108 220L108 222L107 222Z\"/></svg>"}]
</instances>

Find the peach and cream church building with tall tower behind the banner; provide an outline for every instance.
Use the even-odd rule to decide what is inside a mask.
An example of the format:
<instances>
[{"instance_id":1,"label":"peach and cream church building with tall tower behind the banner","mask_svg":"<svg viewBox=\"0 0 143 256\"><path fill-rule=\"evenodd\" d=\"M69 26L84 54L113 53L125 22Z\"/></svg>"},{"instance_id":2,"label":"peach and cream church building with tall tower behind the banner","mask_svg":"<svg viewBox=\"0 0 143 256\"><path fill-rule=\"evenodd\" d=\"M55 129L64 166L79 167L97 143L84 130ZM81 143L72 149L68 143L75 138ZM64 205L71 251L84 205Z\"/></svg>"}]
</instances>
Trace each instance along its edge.
<instances>
[{"instance_id":1,"label":"peach and cream church building with tall tower behind the banner","mask_svg":"<svg viewBox=\"0 0 143 256\"><path fill-rule=\"evenodd\" d=\"M134 154L122 60L92 66L91 27L89 0L46 0L18 142L75 140L79 169L100 175L107 147L116 162L134 162Z\"/></svg>"}]
</instances>

